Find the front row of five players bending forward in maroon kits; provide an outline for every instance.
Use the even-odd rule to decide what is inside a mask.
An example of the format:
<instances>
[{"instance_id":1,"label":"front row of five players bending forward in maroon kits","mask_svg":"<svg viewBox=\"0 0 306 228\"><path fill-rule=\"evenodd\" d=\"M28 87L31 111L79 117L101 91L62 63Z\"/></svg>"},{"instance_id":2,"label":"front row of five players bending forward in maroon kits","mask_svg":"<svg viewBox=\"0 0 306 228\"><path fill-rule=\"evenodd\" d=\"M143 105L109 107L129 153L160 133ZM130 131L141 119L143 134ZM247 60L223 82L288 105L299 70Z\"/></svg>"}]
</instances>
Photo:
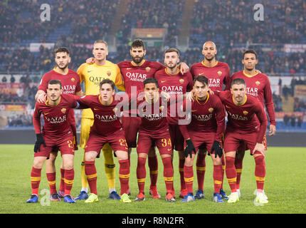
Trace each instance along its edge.
<instances>
[{"instance_id":1,"label":"front row of five players bending forward in maroon kits","mask_svg":"<svg viewBox=\"0 0 306 228\"><path fill-rule=\"evenodd\" d=\"M180 83L184 83L184 80ZM133 95L115 94L115 86L117 85L114 81L104 79L99 83L100 90L97 95L65 94L61 81L56 79L48 81L46 99L44 102L37 101L33 112L36 142L31 170L32 194L27 202L38 202L41 170L45 163L51 200L59 201L62 197L64 202L68 203L75 203L80 199L85 199L85 203L97 202L99 199L95 159L100 157L102 148L104 156L113 157L114 154L119 163L120 195L115 191L115 187L112 187L110 198L126 203L132 202L129 180L130 166L134 164L131 164L130 153L131 148L136 147L139 194L134 199L135 202L145 199L146 162L148 160L149 167L155 164L152 162L152 157L157 160L157 150L164 166L166 200L176 201L173 185L173 153L177 150L181 182L179 197L183 198L181 202L204 198L203 183L207 153L213 162L213 202L222 203L227 199L228 203L235 203L240 197L236 156L242 147L244 151L250 150L250 155L253 155L255 160L257 185L255 201L268 203L268 197L263 190L268 119L263 104L247 93L246 81L243 78L233 78L231 83L228 83L229 90L212 91L209 88L209 78L198 75L194 81L189 80L191 92L185 91L184 95L163 91L159 88L157 78L145 79L143 89L134 91ZM93 112L93 118L89 119L91 122L86 124L87 130L81 129L81 140L84 137L82 134L88 135L84 144L82 175L83 177L85 175L90 194L85 192L85 197L80 194L75 198L71 196L71 189L75 179L73 160L75 150L78 150L78 142L75 127L70 121L74 108L90 109ZM43 116L43 126L41 116ZM131 145L131 140L127 136L130 131L125 127L127 124L123 124L125 121L130 121L129 128L134 128L132 131L137 137L134 145ZM105 147L108 147L106 151ZM57 191L56 172L48 170L55 170L54 160L58 151L62 163L60 189ZM196 155L198 190L194 195ZM105 163L105 171L112 167L115 165L107 167ZM231 188L229 196L223 191L224 172ZM157 175L158 168L155 165L153 171L150 169L149 188L149 195L154 199L161 197L157 192Z\"/></svg>"}]
</instances>

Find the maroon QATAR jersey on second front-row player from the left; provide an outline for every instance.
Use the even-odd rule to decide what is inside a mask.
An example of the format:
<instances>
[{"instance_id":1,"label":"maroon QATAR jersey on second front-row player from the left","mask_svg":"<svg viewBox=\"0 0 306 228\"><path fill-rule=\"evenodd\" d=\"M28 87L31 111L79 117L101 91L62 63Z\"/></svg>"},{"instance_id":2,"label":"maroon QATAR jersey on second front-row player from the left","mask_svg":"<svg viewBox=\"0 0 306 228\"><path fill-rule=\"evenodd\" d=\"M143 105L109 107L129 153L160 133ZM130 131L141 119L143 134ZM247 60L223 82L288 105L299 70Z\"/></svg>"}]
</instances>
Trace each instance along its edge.
<instances>
[{"instance_id":1,"label":"maroon QATAR jersey on second front-row player from the left","mask_svg":"<svg viewBox=\"0 0 306 228\"><path fill-rule=\"evenodd\" d=\"M94 123L90 128L90 133L94 132L102 136L111 135L116 130L120 130L120 112L122 108L118 103L122 100L115 96L112 98L110 105L102 105L100 95L84 95L77 98L82 108L90 108L93 110ZM117 106L118 105L118 106Z\"/></svg>"}]
</instances>

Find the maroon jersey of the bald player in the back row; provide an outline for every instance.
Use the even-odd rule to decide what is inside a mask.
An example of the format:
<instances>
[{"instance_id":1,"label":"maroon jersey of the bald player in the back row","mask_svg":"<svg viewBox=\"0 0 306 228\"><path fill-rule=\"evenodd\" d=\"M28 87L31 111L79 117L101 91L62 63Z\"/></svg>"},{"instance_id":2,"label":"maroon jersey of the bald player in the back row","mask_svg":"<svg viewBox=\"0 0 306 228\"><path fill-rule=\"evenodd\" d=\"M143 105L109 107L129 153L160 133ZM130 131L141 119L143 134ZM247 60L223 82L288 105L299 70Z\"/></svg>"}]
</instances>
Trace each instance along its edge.
<instances>
[{"instance_id":1,"label":"maroon jersey of the bald player in the back row","mask_svg":"<svg viewBox=\"0 0 306 228\"><path fill-rule=\"evenodd\" d=\"M204 61L201 61L201 63L194 63L190 72L193 78L197 76L209 78L209 88L213 91L222 91L223 84L226 86L225 90L230 88L231 73L227 63L217 61L215 66L209 67L204 64Z\"/></svg>"}]
</instances>

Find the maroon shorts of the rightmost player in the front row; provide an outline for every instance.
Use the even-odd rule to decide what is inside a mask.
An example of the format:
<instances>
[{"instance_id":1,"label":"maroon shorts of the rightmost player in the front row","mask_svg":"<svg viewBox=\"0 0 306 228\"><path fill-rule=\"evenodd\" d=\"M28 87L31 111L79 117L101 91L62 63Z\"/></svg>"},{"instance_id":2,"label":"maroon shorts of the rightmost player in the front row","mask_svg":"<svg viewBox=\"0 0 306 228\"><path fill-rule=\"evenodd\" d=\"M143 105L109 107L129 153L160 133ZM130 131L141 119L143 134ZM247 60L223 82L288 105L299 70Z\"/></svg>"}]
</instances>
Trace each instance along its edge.
<instances>
[{"instance_id":1,"label":"maroon shorts of the rightmost player in the front row","mask_svg":"<svg viewBox=\"0 0 306 228\"><path fill-rule=\"evenodd\" d=\"M224 139L224 151L231 152L237 151L241 143L245 144L245 148L250 150L250 155L253 155L253 150L256 145L258 133L233 133L232 131L227 131ZM265 142L263 142L265 143Z\"/></svg>"}]
</instances>

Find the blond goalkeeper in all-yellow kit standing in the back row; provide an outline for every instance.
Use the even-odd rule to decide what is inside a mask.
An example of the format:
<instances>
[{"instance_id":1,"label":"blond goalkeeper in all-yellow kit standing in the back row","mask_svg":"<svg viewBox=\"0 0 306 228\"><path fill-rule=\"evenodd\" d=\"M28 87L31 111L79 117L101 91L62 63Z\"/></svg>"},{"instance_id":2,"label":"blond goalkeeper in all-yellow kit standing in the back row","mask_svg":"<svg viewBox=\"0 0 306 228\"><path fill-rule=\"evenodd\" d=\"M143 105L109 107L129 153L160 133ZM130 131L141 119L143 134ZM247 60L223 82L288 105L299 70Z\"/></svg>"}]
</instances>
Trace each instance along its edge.
<instances>
[{"instance_id":1,"label":"blond goalkeeper in all-yellow kit standing in the back row","mask_svg":"<svg viewBox=\"0 0 306 228\"><path fill-rule=\"evenodd\" d=\"M97 95L100 89L100 82L105 78L112 80L119 90L125 91L120 68L117 66L117 64L106 60L107 54L107 43L102 40L97 40L93 44L93 56L95 56L95 63L83 63L78 68L77 73L80 76L80 83L84 82L85 84L86 95ZM89 108L83 110L80 129L80 147L83 149L85 149L90 127L93 125L93 120L93 111ZM102 153L105 159L105 173L107 175L108 187L110 190L109 198L120 199L120 195L118 195L115 190L115 162L112 157L112 148L108 143L102 147ZM76 200L88 198L88 182L85 175L84 156L81 165L81 177L82 190L80 191L80 195L75 198Z\"/></svg>"}]
</instances>

